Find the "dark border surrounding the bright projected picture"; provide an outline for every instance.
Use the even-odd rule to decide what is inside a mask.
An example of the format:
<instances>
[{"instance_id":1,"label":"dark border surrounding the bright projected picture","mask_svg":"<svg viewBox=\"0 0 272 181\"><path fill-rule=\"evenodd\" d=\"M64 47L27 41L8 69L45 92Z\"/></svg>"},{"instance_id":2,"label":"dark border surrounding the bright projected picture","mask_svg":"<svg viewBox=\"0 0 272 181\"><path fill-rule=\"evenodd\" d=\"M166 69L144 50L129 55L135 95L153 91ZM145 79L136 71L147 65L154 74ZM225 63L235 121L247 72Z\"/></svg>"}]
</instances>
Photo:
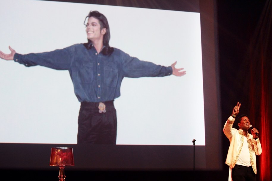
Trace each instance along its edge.
<instances>
[{"instance_id":1,"label":"dark border surrounding the bright projected picture","mask_svg":"<svg viewBox=\"0 0 272 181\"><path fill-rule=\"evenodd\" d=\"M198 170L222 167L220 99L217 65L216 5L214 1L65 1L89 4L200 12L206 146L195 147ZM193 117L193 115L191 115ZM194 128L192 128L194 129ZM203 128L204 129L204 128ZM197 140L196 140L197 142ZM76 166L81 170L191 170L191 146L144 145L52 145L1 143L1 169L53 169L49 166L51 147L73 147Z\"/></svg>"}]
</instances>

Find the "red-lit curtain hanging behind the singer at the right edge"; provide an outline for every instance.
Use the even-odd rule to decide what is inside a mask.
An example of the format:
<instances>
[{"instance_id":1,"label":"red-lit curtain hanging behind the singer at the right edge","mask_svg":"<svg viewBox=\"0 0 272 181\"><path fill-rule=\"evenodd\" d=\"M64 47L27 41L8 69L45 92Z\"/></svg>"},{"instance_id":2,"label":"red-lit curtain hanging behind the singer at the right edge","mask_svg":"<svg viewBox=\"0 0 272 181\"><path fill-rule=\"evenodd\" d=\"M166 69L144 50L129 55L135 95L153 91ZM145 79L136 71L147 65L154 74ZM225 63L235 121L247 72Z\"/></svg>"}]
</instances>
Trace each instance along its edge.
<instances>
[{"instance_id":1,"label":"red-lit curtain hanging behind the singer at the right edge","mask_svg":"<svg viewBox=\"0 0 272 181\"><path fill-rule=\"evenodd\" d=\"M257 180L271 180L272 127L272 5L267 1L255 34L251 39L250 63L250 118L260 132L262 154L257 156Z\"/></svg>"}]
</instances>

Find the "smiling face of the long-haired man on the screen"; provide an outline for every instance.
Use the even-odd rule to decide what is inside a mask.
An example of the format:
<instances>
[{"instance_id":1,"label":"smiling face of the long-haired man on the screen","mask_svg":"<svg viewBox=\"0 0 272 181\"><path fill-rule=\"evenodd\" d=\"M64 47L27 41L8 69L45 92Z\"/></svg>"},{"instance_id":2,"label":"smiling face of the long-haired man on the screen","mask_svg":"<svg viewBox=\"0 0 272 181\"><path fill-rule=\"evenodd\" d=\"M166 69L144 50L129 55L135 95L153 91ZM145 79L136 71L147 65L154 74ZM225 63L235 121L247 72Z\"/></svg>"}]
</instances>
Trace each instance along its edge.
<instances>
[{"instance_id":1,"label":"smiling face of the long-haired man on the screen","mask_svg":"<svg viewBox=\"0 0 272 181\"><path fill-rule=\"evenodd\" d=\"M87 38L93 43L102 42L103 36L106 34L106 28L101 28L99 20L90 17L86 26Z\"/></svg>"}]
</instances>

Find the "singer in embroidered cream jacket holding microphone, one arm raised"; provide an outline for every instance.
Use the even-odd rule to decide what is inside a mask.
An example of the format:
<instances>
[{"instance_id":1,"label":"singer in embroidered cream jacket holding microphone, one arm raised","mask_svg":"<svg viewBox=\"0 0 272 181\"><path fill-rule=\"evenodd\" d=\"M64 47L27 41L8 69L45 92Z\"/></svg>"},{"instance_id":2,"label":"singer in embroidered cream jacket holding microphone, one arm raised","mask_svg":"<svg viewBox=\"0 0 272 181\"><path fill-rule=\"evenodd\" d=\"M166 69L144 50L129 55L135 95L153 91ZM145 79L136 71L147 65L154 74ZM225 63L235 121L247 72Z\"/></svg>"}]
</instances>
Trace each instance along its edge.
<instances>
[{"instance_id":1,"label":"singer in embroidered cream jacket holding microphone, one arm raised","mask_svg":"<svg viewBox=\"0 0 272 181\"><path fill-rule=\"evenodd\" d=\"M239 129L232 128L240 106L237 102L223 128L230 142L225 163L229 166L229 181L256 181L256 155L262 153L259 131L252 128L247 115L237 118ZM251 134L248 133L250 128Z\"/></svg>"}]
</instances>

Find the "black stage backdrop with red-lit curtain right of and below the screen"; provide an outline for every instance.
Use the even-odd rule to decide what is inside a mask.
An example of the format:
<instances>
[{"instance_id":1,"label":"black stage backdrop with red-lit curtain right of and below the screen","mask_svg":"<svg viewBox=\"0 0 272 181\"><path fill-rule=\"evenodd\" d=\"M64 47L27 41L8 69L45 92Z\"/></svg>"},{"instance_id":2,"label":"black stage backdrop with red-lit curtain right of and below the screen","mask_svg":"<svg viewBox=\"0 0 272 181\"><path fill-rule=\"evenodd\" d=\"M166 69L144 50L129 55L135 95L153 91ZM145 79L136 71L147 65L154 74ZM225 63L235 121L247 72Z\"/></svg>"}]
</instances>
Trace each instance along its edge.
<instances>
[{"instance_id":1,"label":"black stage backdrop with red-lit curtain right of and below the screen","mask_svg":"<svg viewBox=\"0 0 272 181\"><path fill-rule=\"evenodd\" d=\"M241 102L240 114L249 116L260 130L263 153L257 156L257 180L271 180L271 1L215 1L218 19L218 64L222 128L232 107ZM200 1L200 3L205 3ZM192 115L193 116L193 115ZM229 140L222 135L222 157ZM216 148L216 145L215 145ZM226 180L229 168L214 171L74 171L66 168L66 180ZM1 177L20 180L58 180L56 170L1 170Z\"/></svg>"}]
</instances>

